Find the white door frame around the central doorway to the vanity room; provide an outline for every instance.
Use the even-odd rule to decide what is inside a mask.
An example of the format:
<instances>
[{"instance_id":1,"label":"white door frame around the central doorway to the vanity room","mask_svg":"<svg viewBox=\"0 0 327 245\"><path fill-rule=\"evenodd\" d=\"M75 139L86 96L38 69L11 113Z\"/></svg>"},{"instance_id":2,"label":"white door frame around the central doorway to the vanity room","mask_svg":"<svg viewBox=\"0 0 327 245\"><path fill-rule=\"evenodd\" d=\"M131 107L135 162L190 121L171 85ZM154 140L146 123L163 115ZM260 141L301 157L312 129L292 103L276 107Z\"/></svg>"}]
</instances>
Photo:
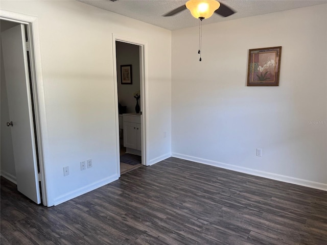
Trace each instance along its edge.
<instances>
[{"instance_id":1,"label":"white door frame around the central doorway to the vanity room","mask_svg":"<svg viewBox=\"0 0 327 245\"><path fill-rule=\"evenodd\" d=\"M142 165L148 166L147 155L147 42L118 36L112 34L112 58L113 58L113 81L114 81L114 101L115 101L115 119L116 119L116 145L117 145L117 174L120 176L120 142L119 142L119 112L118 112L118 81L117 81L117 63L116 63L116 41L130 43L139 46L139 68L140 68L140 92L141 92L141 143L142 143Z\"/></svg>"}]
</instances>

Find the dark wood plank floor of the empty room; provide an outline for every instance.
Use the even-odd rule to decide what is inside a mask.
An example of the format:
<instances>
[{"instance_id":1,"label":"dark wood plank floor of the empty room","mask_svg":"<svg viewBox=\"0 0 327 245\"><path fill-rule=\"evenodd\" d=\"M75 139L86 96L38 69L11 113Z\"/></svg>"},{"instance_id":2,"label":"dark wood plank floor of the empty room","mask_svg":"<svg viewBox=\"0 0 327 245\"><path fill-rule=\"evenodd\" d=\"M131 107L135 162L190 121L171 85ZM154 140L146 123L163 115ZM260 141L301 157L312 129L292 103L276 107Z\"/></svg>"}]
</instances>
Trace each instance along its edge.
<instances>
[{"instance_id":1,"label":"dark wood plank floor of the empty room","mask_svg":"<svg viewBox=\"0 0 327 245\"><path fill-rule=\"evenodd\" d=\"M169 158L55 207L1 179L1 244L327 244L327 192Z\"/></svg>"}]
</instances>

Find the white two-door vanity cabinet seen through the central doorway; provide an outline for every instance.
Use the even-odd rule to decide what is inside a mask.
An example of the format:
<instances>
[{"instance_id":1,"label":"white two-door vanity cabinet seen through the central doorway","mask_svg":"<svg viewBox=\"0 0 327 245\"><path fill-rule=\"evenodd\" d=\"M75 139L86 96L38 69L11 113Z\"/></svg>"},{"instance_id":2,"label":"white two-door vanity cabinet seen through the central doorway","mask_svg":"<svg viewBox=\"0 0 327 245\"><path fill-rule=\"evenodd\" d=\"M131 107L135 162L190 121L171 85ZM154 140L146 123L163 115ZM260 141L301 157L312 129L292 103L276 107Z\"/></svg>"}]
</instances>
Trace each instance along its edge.
<instances>
[{"instance_id":1,"label":"white two-door vanity cabinet seen through the central doorway","mask_svg":"<svg viewBox=\"0 0 327 245\"><path fill-rule=\"evenodd\" d=\"M126 153L141 155L141 115L123 114L123 131Z\"/></svg>"}]
</instances>

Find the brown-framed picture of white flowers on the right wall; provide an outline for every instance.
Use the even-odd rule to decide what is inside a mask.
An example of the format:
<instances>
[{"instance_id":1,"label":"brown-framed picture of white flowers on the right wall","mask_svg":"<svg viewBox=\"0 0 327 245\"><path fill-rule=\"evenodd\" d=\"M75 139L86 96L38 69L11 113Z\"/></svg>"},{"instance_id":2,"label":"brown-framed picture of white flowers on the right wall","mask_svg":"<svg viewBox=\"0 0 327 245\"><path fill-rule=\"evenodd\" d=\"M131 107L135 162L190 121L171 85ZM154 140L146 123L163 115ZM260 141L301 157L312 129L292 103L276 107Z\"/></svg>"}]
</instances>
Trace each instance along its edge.
<instances>
[{"instance_id":1,"label":"brown-framed picture of white flowers on the right wall","mask_svg":"<svg viewBox=\"0 0 327 245\"><path fill-rule=\"evenodd\" d=\"M247 86L278 86L282 46L249 50Z\"/></svg>"}]
</instances>

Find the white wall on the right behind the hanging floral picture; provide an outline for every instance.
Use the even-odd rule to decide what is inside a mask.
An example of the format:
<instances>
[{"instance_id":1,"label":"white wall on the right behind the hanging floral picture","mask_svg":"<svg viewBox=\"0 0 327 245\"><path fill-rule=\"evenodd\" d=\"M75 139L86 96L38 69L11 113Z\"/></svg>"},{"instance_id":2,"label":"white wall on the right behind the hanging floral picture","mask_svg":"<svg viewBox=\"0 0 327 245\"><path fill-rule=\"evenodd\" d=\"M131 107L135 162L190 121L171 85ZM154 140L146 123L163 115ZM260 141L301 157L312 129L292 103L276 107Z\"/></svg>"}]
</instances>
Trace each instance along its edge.
<instances>
[{"instance_id":1,"label":"white wall on the right behind the hanging floral picture","mask_svg":"<svg viewBox=\"0 0 327 245\"><path fill-rule=\"evenodd\" d=\"M172 32L173 156L327 189L327 8ZM247 87L248 50L282 46L278 87ZM262 157L256 157L262 148Z\"/></svg>"}]
</instances>

